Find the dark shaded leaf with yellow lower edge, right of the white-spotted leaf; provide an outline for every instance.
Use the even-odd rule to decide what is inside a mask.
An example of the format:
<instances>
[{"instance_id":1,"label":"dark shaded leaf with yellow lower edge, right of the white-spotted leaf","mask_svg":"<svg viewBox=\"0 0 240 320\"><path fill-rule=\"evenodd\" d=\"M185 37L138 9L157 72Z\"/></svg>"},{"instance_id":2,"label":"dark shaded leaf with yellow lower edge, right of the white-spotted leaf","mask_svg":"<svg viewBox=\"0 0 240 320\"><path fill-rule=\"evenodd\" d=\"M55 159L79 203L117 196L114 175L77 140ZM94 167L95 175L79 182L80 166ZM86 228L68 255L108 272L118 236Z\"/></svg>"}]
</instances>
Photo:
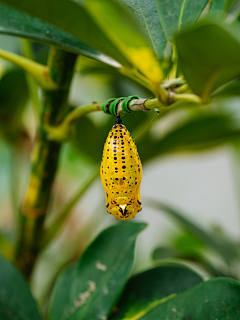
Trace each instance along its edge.
<instances>
[{"instance_id":1,"label":"dark shaded leaf with yellow lower edge, right of the white-spotted leaf","mask_svg":"<svg viewBox=\"0 0 240 320\"><path fill-rule=\"evenodd\" d=\"M139 319L139 314L151 310L163 298L185 291L200 282L202 278L199 275L177 265L159 266L137 274L127 283L116 308L118 311L110 319Z\"/></svg>"}]
</instances>

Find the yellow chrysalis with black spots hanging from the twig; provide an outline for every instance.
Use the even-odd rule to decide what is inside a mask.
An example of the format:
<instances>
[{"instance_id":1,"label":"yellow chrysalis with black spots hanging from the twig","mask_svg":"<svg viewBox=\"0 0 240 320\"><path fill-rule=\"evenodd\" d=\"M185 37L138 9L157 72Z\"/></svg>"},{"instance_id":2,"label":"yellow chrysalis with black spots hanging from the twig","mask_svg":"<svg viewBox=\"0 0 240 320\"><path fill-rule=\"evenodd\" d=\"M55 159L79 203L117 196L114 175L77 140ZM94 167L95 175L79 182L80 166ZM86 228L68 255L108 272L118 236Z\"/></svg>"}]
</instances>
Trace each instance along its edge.
<instances>
[{"instance_id":1,"label":"yellow chrysalis with black spots hanging from the twig","mask_svg":"<svg viewBox=\"0 0 240 320\"><path fill-rule=\"evenodd\" d=\"M116 219L129 220L142 210L142 164L135 142L119 120L105 142L100 174L108 213Z\"/></svg>"}]
</instances>

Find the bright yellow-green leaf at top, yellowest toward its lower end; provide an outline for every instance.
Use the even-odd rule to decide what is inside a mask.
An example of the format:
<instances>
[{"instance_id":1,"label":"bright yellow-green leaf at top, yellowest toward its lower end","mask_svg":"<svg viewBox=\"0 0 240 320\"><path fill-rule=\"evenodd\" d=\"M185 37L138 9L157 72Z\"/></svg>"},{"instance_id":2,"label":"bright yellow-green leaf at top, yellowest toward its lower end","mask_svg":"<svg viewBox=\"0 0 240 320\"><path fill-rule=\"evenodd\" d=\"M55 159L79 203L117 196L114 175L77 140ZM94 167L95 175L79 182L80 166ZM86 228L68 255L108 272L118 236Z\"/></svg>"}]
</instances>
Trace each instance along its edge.
<instances>
[{"instance_id":1,"label":"bright yellow-green leaf at top, yellowest toward its lower end","mask_svg":"<svg viewBox=\"0 0 240 320\"><path fill-rule=\"evenodd\" d=\"M75 1L79 3L79 0ZM131 14L116 0L85 2L92 18L123 56L158 87L164 71Z\"/></svg>"}]
</instances>

